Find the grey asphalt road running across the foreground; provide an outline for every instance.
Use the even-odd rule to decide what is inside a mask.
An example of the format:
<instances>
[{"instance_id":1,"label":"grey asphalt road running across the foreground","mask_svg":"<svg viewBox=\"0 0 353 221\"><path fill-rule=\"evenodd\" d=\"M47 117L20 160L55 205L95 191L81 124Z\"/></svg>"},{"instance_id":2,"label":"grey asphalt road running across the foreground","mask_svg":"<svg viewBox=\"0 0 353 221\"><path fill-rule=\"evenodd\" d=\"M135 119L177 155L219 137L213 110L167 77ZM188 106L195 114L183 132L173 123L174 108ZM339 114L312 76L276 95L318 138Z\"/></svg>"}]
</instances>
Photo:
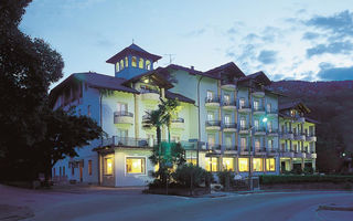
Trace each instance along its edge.
<instances>
[{"instance_id":1,"label":"grey asphalt road running across the foreground","mask_svg":"<svg viewBox=\"0 0 353 221\"><path fill-rule=\"evenodd\" d=\"M353 207L353 193L342 191L229 193L217 198L141 194L138 188L32 191L0 187L0 192L4 193L0 204L32 209L35 215L26 220L353 220L350 211L317 211L321 204Z\"/></svg>"}]
</instances>

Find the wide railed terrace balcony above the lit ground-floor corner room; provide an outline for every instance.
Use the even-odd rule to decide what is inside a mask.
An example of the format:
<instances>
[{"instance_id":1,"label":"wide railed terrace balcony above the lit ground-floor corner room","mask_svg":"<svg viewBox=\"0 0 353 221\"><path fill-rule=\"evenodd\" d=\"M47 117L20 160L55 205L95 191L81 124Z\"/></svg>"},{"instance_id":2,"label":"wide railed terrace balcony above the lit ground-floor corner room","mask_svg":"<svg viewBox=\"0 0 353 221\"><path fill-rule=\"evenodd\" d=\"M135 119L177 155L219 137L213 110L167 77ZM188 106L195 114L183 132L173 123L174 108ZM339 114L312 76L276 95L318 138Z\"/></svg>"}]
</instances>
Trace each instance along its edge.
<instances>
[{"instance_id":1,"label":"wide railed terrace balcony above the lit ground-floor corner room","mask_svg":"<svg viewBox=\"0 0 353 221\"><path fill-rule=\"evenodd\" d=\"M132 138L132 137L118 137L113 136L110 138L103 140L103 146L114 146L114 147L141 147L148 148L152 147L149 145L148 139Z\"/></svg>"}]
</instances>

